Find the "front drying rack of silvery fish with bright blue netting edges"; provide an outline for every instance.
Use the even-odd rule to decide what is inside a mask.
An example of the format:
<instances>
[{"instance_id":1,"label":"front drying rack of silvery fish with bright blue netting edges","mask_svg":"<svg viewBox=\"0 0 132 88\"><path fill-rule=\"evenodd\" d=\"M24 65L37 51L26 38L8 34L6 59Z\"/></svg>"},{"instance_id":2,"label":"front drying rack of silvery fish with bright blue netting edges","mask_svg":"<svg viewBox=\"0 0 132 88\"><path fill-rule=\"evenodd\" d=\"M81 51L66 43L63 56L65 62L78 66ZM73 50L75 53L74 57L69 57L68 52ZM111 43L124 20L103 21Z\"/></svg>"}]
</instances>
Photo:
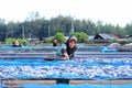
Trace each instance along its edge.
<instances>
[{"instance_id":1,"label":"front drying rack of silvery fish with bright blue netting edges","mask_svg":"<svg viewBox=\"0 0 132 88\"><path fill-rule=\"evenodd\" d=\"M0 79L132 79L132 58L76 58L73 61L0 61Z\"/></svg>"}]
</instances>

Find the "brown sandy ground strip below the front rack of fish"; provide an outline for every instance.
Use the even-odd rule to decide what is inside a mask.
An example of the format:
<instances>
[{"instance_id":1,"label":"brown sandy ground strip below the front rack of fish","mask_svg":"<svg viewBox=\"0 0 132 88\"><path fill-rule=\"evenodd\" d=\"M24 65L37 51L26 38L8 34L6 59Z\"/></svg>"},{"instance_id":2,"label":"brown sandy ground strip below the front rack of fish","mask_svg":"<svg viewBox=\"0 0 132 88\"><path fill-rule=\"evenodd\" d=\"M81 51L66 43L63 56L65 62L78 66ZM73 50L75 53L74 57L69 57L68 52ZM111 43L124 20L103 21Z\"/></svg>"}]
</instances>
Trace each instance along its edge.
<instances>
[{"instance_id":1,"label":"brown sandy ground strip below the front rack of fish","mask_svg":"<svg viewBox=\"0 0 132 88\"><path fill-rule=\"evenodd\" d=\"M38 85L55 85L55 80L1 80L1 82L9 86L9 88L16 88L24 84L38 84ZM70 80L69 85L132 85L132 79L121 80Z\"/></svg>"}]
</instances>

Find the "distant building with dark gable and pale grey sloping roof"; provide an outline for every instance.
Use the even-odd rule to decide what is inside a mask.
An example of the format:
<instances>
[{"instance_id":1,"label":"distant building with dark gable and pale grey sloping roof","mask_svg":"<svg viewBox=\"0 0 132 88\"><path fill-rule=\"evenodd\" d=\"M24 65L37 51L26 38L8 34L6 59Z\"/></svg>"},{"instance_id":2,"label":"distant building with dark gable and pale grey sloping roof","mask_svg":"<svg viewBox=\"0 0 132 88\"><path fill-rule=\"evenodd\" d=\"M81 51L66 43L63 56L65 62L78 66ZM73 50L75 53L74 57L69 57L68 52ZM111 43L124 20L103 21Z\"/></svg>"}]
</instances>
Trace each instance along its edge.
<instances>
[{"instance_id":1,"label":"distant building with dark gable and pale grey sloping roof","mask_svg":"<svg viewBox=\"0 0 132 88\"><path fill-rule=\"evenodd\" d=\"M100 33L95 35L94 40L117 40L118 36L114 34L106 34L106 33Z\"/></svg>"}]
</instances>

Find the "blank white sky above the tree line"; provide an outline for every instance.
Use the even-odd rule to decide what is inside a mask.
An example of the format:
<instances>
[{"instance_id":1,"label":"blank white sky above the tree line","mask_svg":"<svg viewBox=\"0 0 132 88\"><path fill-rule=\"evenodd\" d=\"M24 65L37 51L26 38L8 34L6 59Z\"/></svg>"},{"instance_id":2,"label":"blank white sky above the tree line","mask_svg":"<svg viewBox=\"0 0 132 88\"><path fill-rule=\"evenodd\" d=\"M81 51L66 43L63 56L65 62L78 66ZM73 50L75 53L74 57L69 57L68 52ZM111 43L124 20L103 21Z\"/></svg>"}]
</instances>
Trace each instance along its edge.
<instances>
[{"instance_id":1,"label":"blank white sky above the tree line","mask_svg":"<svg viewBox=\"0 0 132 88\"><path fill-rule=\"evenodd\" d=\"M29 13L41 16L70 15L124 26L132 22L132 0L0 0L0 19L24 21Z\"/></svg>"}]
</instances>

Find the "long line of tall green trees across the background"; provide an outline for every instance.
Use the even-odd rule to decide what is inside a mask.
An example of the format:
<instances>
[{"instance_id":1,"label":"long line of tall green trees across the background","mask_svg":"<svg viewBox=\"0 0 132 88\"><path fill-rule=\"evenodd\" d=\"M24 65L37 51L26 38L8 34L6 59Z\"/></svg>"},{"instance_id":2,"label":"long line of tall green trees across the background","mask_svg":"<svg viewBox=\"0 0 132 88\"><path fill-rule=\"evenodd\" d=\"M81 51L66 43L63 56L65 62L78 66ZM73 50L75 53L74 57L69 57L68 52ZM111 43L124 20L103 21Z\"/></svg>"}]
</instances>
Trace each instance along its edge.
<instances>
[{"instance_id":1,"label":"long line of tall green trees across the background","mask_svg":"<svg viewBox=\"0 0 132 88\"><path fill-rule=\"evenodd\" d=\"M64 33L66 36L70 35L72 29L74 32L85 32L88 35L98 33L111 33L118 35L131 35L132 23L125 26L112 25L110 23L103 24L102 21L94 22L92 20L74 19L70 15L58 15L51 18L38 18L38 13L32 14L23 22L8 22L0 19L0 41L8 37L48 37L56 33Z\"/></svg>"}]
</instances>

